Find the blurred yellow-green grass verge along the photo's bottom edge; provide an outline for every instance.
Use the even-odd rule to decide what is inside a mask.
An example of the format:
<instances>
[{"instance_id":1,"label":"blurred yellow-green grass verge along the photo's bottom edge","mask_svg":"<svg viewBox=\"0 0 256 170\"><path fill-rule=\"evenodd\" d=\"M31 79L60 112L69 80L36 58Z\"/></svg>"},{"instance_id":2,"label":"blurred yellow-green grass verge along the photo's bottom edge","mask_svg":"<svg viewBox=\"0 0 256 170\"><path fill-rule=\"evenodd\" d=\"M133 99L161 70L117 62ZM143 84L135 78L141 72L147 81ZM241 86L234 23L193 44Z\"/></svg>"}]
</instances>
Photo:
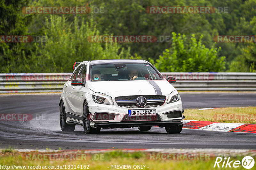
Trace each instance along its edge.
<instances>
[{"instance_id":1,"label":"blurred yellow-green grass verge along the photo's bottom edge","mask_svg":"<svg viewBox=\"0 0 256 170\"><path fill-rule=\"evenodd\" d=\"M79 152L73 152L76 154L79 154ZM36 155L33 159L33 156ZM112 151L112 152L106 152L106 153L95 153L94 155L86 156L86 160L52 160L54 158L51 157L45 157L44 156L38 156L39 154L51 154L51 153L41 153L41 152L5 152L0 153L0 165L6 165L12 167L12 165L15 165L15 169L29 169L29 166L31 169L35 169L35 166L55 166L54 169L62 169L57 168L56 166L64 166L63 169L92 169L92 170L106 170L106 169L114 169L111 168L111 165L131 165L131 168L127 169L146 169L146 170L196 170L196 169L214 169L214 163L216 160L216 157L210 157L210 159L204 160L198 160L198 159L184 159L184 157L180 157L181 160L166 160L167 157L165 157L165 160L161 160L161 157L154 157L154 159L150 159L149 154L159 154L159 153L148 153L148 152L122 152L122 151ZM103 156L99 156L102 154ZM29 155L29 156L28 156ZM95 156L98 155L98 156ZM94 157L97 157L98 159L94 159ZM42 159L43 158L43 159ZM81 158L81 157L80 157ZM186 157L187 158L187 157ZM40 160L36 160L40 159ZM155 160L157 159L157 160ZM243 156L235 156L231 157L231 160L239 160L241 161L243 159ZM255 158L254 158L255 159ZM234 162L233 161L233 162ZM223 161L221 162L220 166L222 166ZM141 168L138 168L138 166L141 166ZM17 167L17 166L27 166L25 167ZM34 167L33 167L34 166ZM136 166L136 168L134 167ZM231 165L232 166L232 165ZM33 167L33 168L32 168ZM45 169L45 168L36 168L36 169ZM121 168L119 168L121 169ZM124 168L123 168L124 169ZM220 168L216 168L220 169ZM238 168L221 168L221 169L244 169L242 165L240 165ZM253 169L253 168L252 168Z\"/></svg>"}]
</instances>

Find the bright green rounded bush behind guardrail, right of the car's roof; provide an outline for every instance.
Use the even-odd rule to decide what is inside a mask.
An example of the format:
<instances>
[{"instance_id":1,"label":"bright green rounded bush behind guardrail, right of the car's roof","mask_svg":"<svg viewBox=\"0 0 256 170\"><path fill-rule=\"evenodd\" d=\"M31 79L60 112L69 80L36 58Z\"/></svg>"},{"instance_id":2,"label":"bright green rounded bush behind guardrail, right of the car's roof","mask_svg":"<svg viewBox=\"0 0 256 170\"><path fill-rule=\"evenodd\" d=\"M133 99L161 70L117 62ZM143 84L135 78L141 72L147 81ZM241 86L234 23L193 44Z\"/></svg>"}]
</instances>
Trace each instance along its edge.
<instances>
[{"instance_id":1,"label":"bright green rounded bush behind guardrail, right of the car's roof","mask_svg":"<svg viewBox=\"0 0 256 170\"><path fill-rule=\"evenodd\" d=\"M219 72L225 69L225 57L218 57L220 48L206 48L202 44L203 35L196 41L195 35L188 39L185 35L172 32L171 48L166 49L155 63L161 72Z\"/></svg>"}]
</instances>

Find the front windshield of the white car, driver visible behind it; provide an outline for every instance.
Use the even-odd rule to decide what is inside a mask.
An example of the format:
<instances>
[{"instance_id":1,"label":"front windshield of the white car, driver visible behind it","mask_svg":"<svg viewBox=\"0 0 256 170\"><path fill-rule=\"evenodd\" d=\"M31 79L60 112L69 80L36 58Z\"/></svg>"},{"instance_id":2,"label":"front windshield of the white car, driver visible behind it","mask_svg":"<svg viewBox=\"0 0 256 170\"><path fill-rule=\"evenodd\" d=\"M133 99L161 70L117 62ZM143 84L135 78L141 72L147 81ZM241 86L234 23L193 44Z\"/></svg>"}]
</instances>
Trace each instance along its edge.
<instances>
[{"instance_id":1,"label":"front windshield of the white car, driver visible behind it","mask_svg":"<svg viewBox=\"0 0 256 170\"><path fill-rule=\"evenodd\" d=\"M93 65L91 81L162 80L149 64Z\"/></svg>"}]
</instances>

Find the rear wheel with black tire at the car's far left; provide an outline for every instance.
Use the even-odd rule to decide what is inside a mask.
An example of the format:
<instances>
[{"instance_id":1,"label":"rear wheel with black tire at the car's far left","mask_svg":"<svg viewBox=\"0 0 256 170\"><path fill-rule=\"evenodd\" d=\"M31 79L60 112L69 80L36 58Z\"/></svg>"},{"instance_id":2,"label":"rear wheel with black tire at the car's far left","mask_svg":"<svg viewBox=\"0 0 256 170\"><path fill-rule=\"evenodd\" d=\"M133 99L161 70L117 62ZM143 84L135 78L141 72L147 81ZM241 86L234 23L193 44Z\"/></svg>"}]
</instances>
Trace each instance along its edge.
<instances>
[{"instance_id":1,"label":"rear wheel with black tire at the car's far left","mask_svg":"<svg viewBox=\"0 0 256 170\"><path fill-rule=\"evenodd\" d=\"M74 131L75 124L67 124L66 110L63 101L60 103L60 129L61 131Z\"/></svg>"}]
</instances>

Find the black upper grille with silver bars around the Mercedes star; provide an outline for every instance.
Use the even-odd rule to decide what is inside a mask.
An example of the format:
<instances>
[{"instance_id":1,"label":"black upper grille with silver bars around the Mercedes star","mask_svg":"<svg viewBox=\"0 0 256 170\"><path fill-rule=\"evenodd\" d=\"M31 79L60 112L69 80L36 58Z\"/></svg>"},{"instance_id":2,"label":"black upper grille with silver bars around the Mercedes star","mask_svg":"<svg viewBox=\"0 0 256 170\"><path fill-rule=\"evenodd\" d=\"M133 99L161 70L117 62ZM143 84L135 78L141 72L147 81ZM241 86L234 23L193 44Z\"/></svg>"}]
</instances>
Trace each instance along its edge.
<instances>
[{"instance_id":1,"label":"black upper grille with silver bars around the Mercedes star","mask_svg":"<svg viewBox=\"0 0 256 170\"><path fill-rule=\"evenodd\" d=\"M136 103L136 99L143 96L147 100L147 104L144 107L139 107ZM161 95L136 95L136 96L119 96L115 97L118 106L127 108L149 108L157 107L164 104L166 97Z\"/></svg>"}]
</instances>

